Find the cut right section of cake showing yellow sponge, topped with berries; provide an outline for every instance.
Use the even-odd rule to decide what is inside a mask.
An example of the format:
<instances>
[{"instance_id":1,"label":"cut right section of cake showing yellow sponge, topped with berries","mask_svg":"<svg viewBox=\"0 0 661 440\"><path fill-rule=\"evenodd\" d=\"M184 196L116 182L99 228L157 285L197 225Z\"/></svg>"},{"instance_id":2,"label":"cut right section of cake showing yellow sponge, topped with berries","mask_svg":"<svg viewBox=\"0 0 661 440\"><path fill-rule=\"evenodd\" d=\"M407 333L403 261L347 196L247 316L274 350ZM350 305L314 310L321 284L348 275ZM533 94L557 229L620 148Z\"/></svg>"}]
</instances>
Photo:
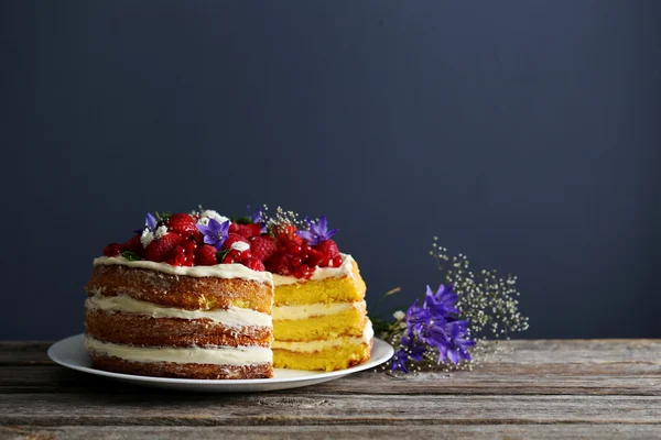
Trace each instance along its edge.
<instances>
[{"instance_id":1,"label":"cut right section of cake showing yellow sponge, topped with berries","mask_svg":"<svg viewBox=\"0 0 661 440\"><path fill-rule=\"evenodd\" d=\"M368 361L366 285L356 261L330 240L336 231L325 217L308 222L308 231L275 229L279 251L267 262L275 285L274 366L334 371Z\"/></svg>"}]
</instances>

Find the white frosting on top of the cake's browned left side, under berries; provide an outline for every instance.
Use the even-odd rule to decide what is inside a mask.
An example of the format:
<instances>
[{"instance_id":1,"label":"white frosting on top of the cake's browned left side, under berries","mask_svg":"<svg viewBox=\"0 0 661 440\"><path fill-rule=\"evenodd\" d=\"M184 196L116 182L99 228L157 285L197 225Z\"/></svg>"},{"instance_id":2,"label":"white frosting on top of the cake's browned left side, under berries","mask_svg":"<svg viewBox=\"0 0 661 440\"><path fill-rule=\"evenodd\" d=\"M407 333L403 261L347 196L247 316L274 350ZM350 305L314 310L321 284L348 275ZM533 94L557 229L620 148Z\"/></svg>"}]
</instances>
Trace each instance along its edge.
<instances>
[{"instance_id":1,"label":"white frosting on top of the cake's browned left side, under berries","mask_svg":"<svg viewBox=\"0 0 661 440\"><path fill-rule=\"evenodd\" d=\"M241 278L267 283L273 285L273 275L270 272L252 271L242 264L216 264L215 266L173 266L167 263L156 263L147 260L129 261L123 256L99 256L94 260L94 265L122 265L129 267L149 268L171 275L184 275L194 277L216 277L216 278ZM295 279L295 278L294 278Z\"/></svg>"}]
</instances>

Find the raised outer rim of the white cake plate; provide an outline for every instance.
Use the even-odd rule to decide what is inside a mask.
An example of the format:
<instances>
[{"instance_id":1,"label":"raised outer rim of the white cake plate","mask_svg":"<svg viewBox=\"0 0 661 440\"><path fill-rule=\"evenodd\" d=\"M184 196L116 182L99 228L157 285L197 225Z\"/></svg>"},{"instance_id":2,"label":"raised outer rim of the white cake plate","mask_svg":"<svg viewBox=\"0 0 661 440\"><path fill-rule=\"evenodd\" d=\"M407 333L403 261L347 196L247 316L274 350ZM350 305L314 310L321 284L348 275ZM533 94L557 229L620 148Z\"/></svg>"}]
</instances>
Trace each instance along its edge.
<instances>
[{"instance_id":1,"label":"raised outer rim of the white cake plate","mask_svg":"<svg viewBox=\"0 0 661 440\"><path fill-rule=\"evenodd\" d=\"M83 373L95 374L99 376L106 376L122 381L137 381L137 382L149 382L149 383L162 383L169 385L273 385L273 384L285 384L285 383L301 383L306 381L318 381L318 380L330 380L330 378L339 378L346 376L351 373L357 373L360 371L369 370L376 366L381 365L392 358L394 354L394 349L391 344L383 341L379 338L373 338L371 355L369 361L362 363L360 365L351 366L349 369L344 370L335 370L332 372L310 372L302 370L290 370L290 372L301 371L305 373L305 376L290 376L290 377L266 377L266 378L224 378L224 380L214 380L214 378L178 378L178 377L156 377L156 376L140 376L136 374L126 374L126 373L115 373L108 372L105 370L94 369L91 366L85 366L77 363L68 362L62 356L57 354L57 350L62 349L63 345L67 343L75 343L74 340L79 339L80 349L84 351L83 340L85 338L85 333L73 334L67 338L63 338L48 346L46 352L48 359L55 362L58 365L64 367L79 371ZM379 358L375 359L373 353L377 350L377 345L379 349L383 349L384 352ZM284 370L284 369L274 369L274 370Z\"/></svg>"}]
</instances>

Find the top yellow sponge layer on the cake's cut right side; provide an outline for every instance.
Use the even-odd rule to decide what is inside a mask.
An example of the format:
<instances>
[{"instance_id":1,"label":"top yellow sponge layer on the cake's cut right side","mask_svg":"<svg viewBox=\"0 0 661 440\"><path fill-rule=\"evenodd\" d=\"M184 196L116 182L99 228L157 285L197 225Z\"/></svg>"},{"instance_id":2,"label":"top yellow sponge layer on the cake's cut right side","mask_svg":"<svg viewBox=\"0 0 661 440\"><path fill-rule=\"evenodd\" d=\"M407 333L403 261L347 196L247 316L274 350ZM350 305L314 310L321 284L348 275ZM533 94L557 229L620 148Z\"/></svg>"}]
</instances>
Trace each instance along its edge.
<instances>
[{"instance_id":1,"label":"top yellow sponge layer on the cake's cut right side","mask_svg":"<svg viewBox=\"0 0 661 440\"><path fill-rule=\"evenodd\" d=\"M356 302L365 298L365 282L356 262L351 276L311 279L304 283L275 286L275 306L294 306L315 302Z\"/></svg>"}]
</instances>

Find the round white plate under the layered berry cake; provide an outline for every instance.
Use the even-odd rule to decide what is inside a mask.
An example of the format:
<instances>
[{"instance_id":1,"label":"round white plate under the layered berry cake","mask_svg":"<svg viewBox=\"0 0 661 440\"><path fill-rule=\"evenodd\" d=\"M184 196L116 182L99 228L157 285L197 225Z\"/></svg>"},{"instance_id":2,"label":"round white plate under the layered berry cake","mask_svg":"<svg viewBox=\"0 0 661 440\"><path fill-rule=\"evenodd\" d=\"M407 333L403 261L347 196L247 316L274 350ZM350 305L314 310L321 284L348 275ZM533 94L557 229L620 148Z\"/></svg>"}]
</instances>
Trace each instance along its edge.
<instances>
[{"instance_id":1,"label":"round white plate under the layered berry cake","mask_svg":"<svg viewBox=\"0 0 661 440\"><path fill-rule=\"evenodd\" d=\"M246 378L246 380L196 380L196 378L169 378L152 376L136 376L132 374L111 373L91 367L91 360L84 345L84 334L76 334L55 342L48 349L48 358L59 365L68 369L82 371L85 373L97 374L99 376L112 377L119 381L133 383L136 385L145 385L170 389L185 389L195 392L224 392L224 393L247 393L247 392L271 392L275 389L297 388L321 384L322 382L333 381L344 377L347 374L356 373L362 370L373 369L392 358L392 346L380 339L375 338L369 362L354 366L351 369L338 370L334 372L308 372L301 370L274 369L272 378Z\"/></svg>"}]
</instances>

